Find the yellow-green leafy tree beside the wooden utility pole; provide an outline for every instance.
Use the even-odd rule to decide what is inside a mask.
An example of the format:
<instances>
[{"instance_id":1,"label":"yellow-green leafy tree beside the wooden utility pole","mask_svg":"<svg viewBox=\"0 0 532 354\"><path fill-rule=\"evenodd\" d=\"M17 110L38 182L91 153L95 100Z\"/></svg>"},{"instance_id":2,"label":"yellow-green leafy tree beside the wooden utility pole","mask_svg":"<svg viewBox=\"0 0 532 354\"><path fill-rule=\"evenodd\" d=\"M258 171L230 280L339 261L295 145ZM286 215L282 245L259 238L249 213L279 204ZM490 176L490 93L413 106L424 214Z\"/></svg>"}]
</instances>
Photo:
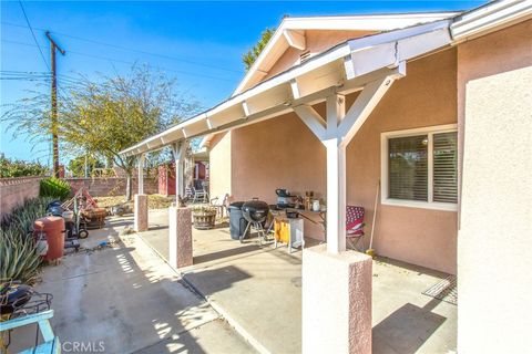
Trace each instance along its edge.
<instances>
[{"instance_id":1,"label":"yellow-green leafy tree beside the wooden utility pole","mask_svg":"<svg viewBox=\"0 0 532 354\"><path fill-rule=\"evenodd\" d=\"M127 176L131 199L135 158L119 153L200 111L198 103L176 87L175 79L147 65L98 81L80 75L60 92L57 127L51 126L49 101L42 94L21 100L2 114L2 121L14 134L24 132L35 142L57 129L63 152L112 160Z\"/></svg>"}]
</instances>

